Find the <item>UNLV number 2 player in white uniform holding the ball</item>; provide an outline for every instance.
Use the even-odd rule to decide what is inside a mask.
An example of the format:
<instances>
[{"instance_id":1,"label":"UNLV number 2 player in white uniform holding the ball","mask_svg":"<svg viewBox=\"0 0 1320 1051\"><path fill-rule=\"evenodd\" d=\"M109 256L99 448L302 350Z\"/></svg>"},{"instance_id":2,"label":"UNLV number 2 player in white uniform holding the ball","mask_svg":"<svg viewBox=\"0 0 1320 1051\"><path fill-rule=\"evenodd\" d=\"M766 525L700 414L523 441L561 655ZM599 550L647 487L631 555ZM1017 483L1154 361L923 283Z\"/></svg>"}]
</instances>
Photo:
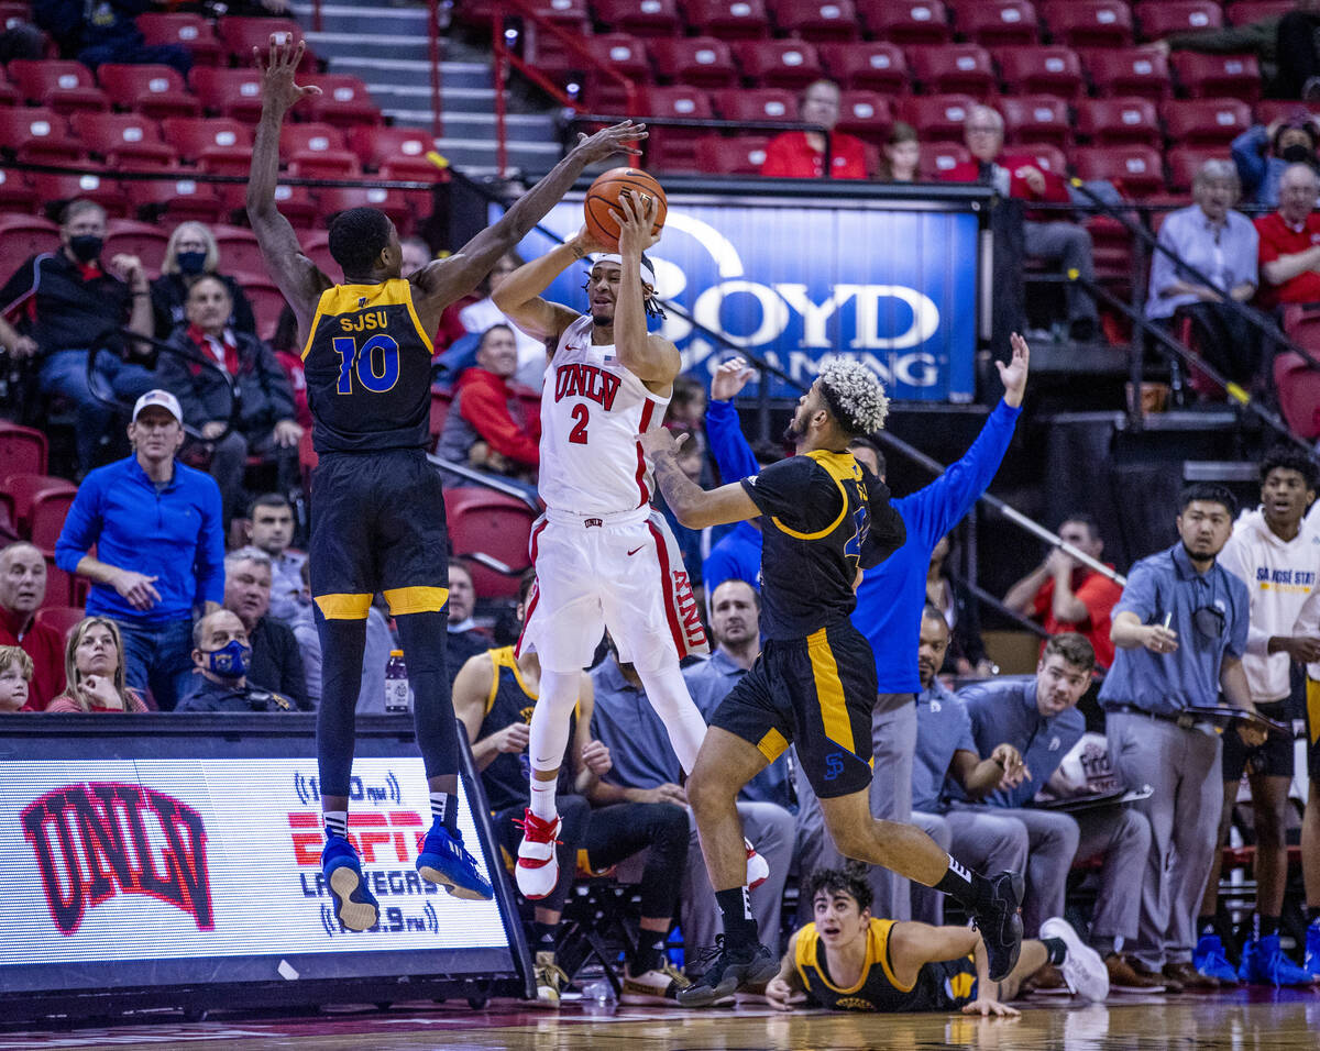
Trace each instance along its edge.
<instances>
[{"instance_id":1,"label":"UNLV number 2 player in white uniform holding the ball","mask_svg":"<svg viewBox=\"0 0 1320 1051\"><path fill-rule=\"evenodd\" d=\"M568 741L578 676L605 628L619 661L631 663L664 720L688 773L706 721L678 661L709 646L682 556L664 516L651 506L651 477L639 434L661 427L681 361L667 339L647 332L656 314L655 268L643 255L656 203L620 199L619 252L591 264L590 313L541 298L568 266L601 251L585 229L520 266L495 291L495 305L524 332L552 342L541 396L539 491L545 514L532 529L536 588L519 651L541 658L541 699L532 712L532 806L517 852L517 886L528 898L557 877L554 782ZM751 882L768 874L743 841Z\"/></svg>"}]
</instances>

